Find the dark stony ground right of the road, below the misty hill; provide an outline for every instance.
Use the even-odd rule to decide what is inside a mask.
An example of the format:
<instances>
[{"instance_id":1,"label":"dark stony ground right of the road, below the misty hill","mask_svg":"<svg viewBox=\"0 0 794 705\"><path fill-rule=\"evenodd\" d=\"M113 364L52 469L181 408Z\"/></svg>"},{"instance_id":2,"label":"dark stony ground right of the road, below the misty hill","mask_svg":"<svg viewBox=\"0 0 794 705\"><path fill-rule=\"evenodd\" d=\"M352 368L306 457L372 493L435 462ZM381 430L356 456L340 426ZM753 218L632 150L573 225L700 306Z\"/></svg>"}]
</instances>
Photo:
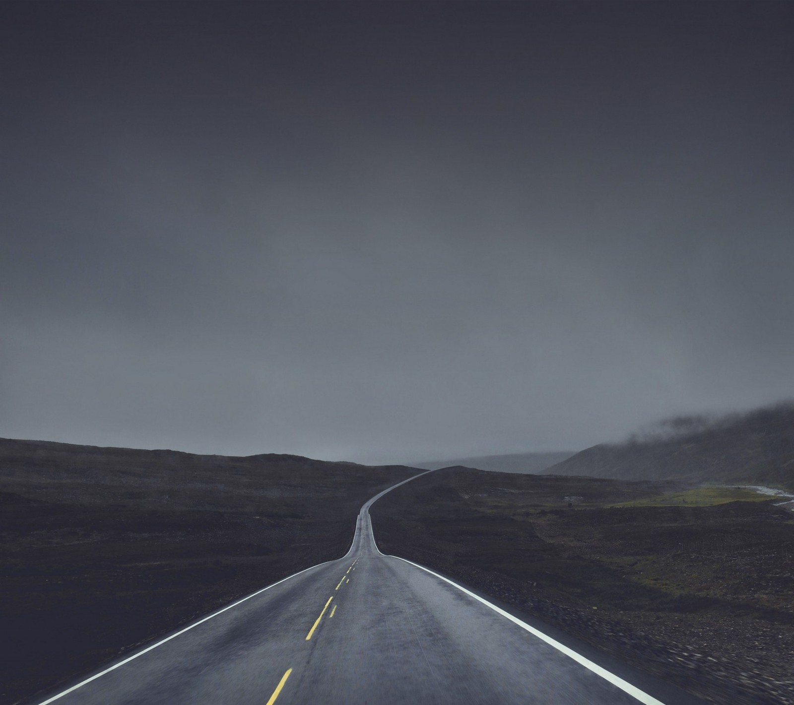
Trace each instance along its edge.
<instances>
[{"instance_id":1,"label":"dark stony ground right of the road, below the misty hill","mask_svg":"<svg viewBox=\"0 0 794 705\"><path fill-rule=\"evenodd\" d=\"M727 502L733 491L717 489L676 494L687 506L653 506L682 489L460 468L395 489L370 513L385 554L457 577L695 695L794 703L791 513L775 500ZM692 506L713 501L724 504ZM635 506L611 506L623 503Z\"/></svg>"}]
</instances>

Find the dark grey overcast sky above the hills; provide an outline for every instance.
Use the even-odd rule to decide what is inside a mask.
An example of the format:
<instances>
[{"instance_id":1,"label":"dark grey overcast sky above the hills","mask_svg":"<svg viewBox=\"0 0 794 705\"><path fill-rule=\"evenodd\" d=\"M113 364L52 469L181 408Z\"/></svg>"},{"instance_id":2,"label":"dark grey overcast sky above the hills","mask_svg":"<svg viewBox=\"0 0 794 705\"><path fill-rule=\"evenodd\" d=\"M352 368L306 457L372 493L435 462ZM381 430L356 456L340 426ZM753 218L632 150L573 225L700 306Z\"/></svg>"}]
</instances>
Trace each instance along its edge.
<instances>
[{"instance_id":1,"label":"dark grey overcast sky above the hills","mask_svg":"<svg viewBox=\"0 0 794 705\"><path fill-rule=\"evenodd\" d=\"M2 436L403 462L794 396L794 3L0 15Z\"/></svg>"}]
</instances>

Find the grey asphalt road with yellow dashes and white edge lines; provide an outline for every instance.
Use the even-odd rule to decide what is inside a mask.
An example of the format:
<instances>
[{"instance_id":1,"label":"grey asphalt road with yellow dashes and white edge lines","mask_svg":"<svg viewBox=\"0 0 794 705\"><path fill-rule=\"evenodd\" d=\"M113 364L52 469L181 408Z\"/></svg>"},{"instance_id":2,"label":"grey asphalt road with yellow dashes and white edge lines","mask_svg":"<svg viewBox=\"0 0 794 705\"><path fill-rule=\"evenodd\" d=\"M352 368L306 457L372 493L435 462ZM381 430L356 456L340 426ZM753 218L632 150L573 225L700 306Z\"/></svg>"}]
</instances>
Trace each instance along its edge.
<instances>
[{"instance_id":1,"label":"grey asphalt road with yellow dashes and white edge lines","mask_svg":"<svg viewBox=\"0 0 794 705\"><path fill-rule=\"evenodd\" d=\"M253 593L41 705L700 702L625 668L618 677L582 656L587 647L569 649L381 554L368 509L385 492L361 508L344 558Z\"/></svg>"}]
</instances>

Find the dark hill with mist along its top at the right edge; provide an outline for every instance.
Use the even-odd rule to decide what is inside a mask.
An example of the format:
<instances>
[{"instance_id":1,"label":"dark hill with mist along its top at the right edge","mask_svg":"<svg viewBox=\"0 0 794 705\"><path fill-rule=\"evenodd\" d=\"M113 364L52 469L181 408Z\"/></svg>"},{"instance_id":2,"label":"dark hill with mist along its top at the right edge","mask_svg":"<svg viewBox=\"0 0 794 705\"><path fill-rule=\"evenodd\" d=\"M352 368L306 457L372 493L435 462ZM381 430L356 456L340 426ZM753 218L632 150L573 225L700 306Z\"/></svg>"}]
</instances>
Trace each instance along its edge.
<instances>
[{"instance_id":1,"label":"dark hill with mist along its top at the right edge","mask_svg":"<svg viewBox=\"0 0 794 705\"><path fill-rule=\"evenodd\" d=\"M717 418L666 420L626 443L601 443L582 450L546 472L794 489L794 403Z\"/></svg>"}]
</instances>

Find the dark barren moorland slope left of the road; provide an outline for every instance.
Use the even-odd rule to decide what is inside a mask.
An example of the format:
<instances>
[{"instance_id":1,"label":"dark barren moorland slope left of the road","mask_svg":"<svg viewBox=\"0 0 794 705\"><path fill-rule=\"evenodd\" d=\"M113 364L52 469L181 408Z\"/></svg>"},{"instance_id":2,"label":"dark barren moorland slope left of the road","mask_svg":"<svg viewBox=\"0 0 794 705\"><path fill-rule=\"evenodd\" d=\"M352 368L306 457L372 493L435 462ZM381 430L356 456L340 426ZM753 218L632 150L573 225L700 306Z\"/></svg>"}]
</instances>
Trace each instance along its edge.
<instances>
[{"instance_id":1,"label":"dark barren moorland slope left of the road","mask_svg":"<svg viewBox=\"0 0 794 705\"><path fill-rule=\"evenodd\" d=\"M0 440L0 703L341 557L361 505L415 473Z\"/></svg>"}]
</instances>

